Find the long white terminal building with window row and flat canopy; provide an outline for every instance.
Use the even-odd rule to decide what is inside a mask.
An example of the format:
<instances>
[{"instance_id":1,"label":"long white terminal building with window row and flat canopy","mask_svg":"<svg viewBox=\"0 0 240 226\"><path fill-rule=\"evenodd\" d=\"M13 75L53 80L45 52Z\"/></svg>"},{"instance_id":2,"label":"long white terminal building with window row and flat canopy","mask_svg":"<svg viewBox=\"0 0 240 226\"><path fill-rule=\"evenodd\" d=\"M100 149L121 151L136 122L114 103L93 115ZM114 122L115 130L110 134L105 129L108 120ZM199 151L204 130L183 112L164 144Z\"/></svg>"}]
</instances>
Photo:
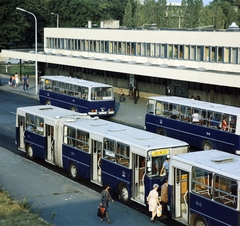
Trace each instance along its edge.
<instances>
[{"instance_id":1,"label":"long white terminal building with window row and flat canopy","mask_svg":"<svg viewBox=\"0 0 240 226\"><path fill-rule=\"evenodd\" d=\"M126 29L118 21L86 28L44 28L44 49L2 50L35 61L44 75L108 83L128 94L199 97L240 106L238 26L228 30ZM232 28L232 29L231 29Z\"/></svg>"}]
</instances>

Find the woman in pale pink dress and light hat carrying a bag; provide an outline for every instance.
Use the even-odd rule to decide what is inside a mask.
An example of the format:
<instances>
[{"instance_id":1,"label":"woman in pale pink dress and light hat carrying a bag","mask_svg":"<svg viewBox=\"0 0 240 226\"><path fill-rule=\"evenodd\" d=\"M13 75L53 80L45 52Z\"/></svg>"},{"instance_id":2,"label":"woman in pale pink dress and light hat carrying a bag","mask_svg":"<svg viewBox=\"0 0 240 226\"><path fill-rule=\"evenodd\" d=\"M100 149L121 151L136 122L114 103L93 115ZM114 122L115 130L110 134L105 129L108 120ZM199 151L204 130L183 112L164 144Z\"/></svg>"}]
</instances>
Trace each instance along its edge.
<instances>
[{"instance_id":1,"label":"woman in pale pink dress and light hat carrying a bag","mask_svg":"<svg viewBox=\"0 0 240 226\"><path fill-rule=\"evenodd\" d=\"M158 184L153 185L153 189L149 192L147 201L149 205L149 211L152 212L151 221L154 222L154 218L157 214L157 207L160 205L159 199L158 199Z\"/></svg>"}]
</instances>

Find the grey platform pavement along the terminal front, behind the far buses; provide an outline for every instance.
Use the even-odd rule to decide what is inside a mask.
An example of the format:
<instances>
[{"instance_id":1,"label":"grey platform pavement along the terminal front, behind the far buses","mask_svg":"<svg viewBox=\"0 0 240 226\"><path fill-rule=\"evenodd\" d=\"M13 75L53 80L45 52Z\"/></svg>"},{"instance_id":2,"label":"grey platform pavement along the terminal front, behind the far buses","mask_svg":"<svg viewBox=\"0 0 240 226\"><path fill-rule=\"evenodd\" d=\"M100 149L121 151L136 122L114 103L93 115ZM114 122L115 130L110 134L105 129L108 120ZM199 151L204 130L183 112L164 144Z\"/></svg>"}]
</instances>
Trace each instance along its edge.
<instances>
[{"instance_id":1,"label":"grey platform pavement along the terminal front, behind the far buses","mask_svg":"<svg viewBox=\"0 0 240 226\"><path fill-rule=\"evenodd\" d=\"M27 95L31 98L38 98L35 94L36 90L36 81L34 76L29 78L29 91L26 92L23 90L22 84L19 84L16 88L13 88L8 85L10 76L0 74L1 76L1 85L0 89L8 90L11 92L16 92L21 95ZM119 103L119 94L114 93L116 99L116 115L112 117L113 121L130 124L135 127L144 128L145 114L147 110L147 99L146 98L137 98L137 101L131 100L130 97L125 93L125 103Z\"/></svg>"}]
</instances>

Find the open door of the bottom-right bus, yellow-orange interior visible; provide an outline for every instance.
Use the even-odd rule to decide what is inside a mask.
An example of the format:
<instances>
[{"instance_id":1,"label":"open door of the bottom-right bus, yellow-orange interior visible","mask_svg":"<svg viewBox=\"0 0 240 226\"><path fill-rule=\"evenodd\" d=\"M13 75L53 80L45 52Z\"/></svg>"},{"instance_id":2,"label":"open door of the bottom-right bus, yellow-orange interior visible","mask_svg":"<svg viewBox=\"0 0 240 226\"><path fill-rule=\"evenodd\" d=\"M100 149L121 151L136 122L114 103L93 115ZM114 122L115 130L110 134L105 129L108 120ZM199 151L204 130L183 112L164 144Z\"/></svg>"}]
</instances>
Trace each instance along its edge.
<instances>
[{"instance_id":1,"label":"open door of the bottom-right bus, yellow-orange interior visible","mask_svg":"<svg viewBox=\"0 0 240 226\"><path fill-rule=\"evenodd\" d=\"M189 173L174 169L174 218L189 222Z\"/></svg>"}]
</instances>

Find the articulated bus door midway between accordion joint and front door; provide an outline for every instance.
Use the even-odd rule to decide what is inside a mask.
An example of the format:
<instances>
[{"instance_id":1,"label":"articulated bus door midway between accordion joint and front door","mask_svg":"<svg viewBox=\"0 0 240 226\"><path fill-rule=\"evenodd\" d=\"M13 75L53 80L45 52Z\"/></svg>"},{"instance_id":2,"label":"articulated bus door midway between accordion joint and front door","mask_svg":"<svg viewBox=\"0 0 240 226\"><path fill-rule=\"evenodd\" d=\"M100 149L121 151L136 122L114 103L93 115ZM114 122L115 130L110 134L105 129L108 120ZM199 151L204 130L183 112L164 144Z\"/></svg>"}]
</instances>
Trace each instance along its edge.
<instances>
[{"instance_id":1,"label":"articulated bus door midway between accordion joint and front door","mask_svg":"<svg viewBox=\"0 0 240 226\"><path fill-rule=\"evenodd\" d=\"M92 139L92 182L102 183L102 142Z\"/></svg>"}]
</instances>

